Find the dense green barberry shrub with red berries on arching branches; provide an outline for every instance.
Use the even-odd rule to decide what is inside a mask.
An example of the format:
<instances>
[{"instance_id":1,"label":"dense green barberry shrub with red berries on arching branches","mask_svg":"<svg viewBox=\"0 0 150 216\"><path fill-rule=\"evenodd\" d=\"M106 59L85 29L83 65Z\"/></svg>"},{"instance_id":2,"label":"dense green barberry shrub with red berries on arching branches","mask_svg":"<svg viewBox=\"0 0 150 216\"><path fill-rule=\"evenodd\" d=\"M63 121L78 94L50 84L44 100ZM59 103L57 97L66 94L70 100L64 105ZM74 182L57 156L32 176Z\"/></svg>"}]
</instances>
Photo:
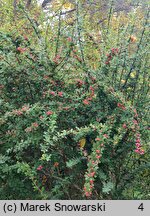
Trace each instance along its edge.
<instances>
[{"instance_id":1,"label":"dense green barberry shrub with red berries on arching branches","mask_svg":"<svg viewBox=\"0 0 150 216\"><path fill-rule=\"evenodd\" d=\"M66 30L22 6L3 21L1 199L149 198L147 14L110 10L95 42L81 7Z\"/></svg>"}]
</instances>

